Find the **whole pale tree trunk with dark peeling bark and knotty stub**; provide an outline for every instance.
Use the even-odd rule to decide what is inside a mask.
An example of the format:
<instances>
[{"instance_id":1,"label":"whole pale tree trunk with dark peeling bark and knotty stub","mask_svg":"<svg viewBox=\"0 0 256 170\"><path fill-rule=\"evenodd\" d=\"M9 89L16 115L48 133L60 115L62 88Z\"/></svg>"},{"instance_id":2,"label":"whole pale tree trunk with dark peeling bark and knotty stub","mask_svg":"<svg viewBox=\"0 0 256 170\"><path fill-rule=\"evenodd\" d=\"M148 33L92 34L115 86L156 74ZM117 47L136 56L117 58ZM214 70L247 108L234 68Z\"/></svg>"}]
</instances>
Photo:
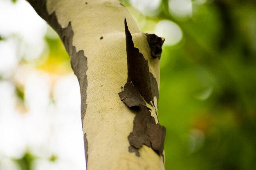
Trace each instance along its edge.
<instances>
[{"instance_id":1,"label":"whole pale tree trunk with dark peeling bark and knotty stub","mask_svg":"<svg viewBox=\"0 0 256 170\"><path fill-rule=\"evenodd\" d=\"M118 0L27 1L60 36L79 80L87 169L164 170L164 39L142 33Z\"/></svg>"}]
</instances>

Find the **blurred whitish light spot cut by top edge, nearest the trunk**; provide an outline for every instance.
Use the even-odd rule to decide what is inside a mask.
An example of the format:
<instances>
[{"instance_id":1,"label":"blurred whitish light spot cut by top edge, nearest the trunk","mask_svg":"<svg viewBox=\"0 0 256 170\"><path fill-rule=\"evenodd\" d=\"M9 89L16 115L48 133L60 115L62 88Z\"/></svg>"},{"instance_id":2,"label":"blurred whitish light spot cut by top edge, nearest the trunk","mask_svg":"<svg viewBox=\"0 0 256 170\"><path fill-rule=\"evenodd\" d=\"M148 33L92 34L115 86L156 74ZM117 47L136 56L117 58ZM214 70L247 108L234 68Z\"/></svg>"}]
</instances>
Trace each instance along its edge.
<instances>
[{"instance_id":1,"label":"blurred whitish light spot cut by top edge, nearest the trunk","mask_svg":"<svg viewBox=\"0 0 256 170\"><path fill-rule=\"evenodd\" d=\"M155 16L161 11L161 0L130 0L130 4L147 16Z\"/></svg>"}]
</instances>

